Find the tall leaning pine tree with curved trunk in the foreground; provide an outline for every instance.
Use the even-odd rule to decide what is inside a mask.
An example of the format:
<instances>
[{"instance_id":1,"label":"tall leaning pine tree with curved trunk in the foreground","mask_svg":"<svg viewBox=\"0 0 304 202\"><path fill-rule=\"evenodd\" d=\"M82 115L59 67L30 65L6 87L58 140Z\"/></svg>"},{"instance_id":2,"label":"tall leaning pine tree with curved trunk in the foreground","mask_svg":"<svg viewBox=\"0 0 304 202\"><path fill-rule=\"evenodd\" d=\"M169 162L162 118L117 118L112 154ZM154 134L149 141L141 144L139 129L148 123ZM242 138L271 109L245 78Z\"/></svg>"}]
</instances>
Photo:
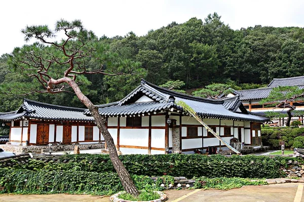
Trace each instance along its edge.
<instances>
[{"instance_id":1,"label":"tall leaning pine tree with curved trunk in the foreground","mask_svg":"<svg viewBox=\"0 0 304 202\"><path fill-rule=\"evenodd\" d=\"M55 34L63 32L65 38L57 42ZM96 125L104 136L111 162L116 169L127 193L138 195L130 174L118 158L114 141L108 132L97 107L82 92L79 85L88 82L85 74L122 75L132 73L131 62L119 63L117 58L107 52L92 31L83 28L80 20L56 22L55 30L47 25L27 26L22 30L25 40L35 39L31 45L15 48L11 63L16 70L34 78L37 82L28 93L71 92L90 110ZM133 65L133 66L132 66ZM111 67L116 68L111 68ZM97 67L97 68L96 68ZM34 84L27 84L34 85Z\"/></svg>"}]
</instances>

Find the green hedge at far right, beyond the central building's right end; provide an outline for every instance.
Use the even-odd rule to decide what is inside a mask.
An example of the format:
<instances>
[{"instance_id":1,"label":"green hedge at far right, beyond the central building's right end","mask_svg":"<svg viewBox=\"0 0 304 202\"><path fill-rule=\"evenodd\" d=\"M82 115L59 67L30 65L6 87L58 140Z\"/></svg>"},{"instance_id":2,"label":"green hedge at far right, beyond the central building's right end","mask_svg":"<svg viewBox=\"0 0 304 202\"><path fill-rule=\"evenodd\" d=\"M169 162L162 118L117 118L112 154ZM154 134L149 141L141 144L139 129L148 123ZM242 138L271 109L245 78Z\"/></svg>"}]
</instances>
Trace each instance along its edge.
<instances>
[{"instance_id":1,"label":"green hedge at far right, beyond the central building's right end","mask_svg":"<svg viewBox=\"0 0 304 202\"><path fill-rule=\"evenodd\" d=\"M279 142L284 140L285 147L304 148L304 142L295 142L296 137L304 136L304 128L264 128L261 130L263 145L281 149Z\"/></svg>"}]
</instances>

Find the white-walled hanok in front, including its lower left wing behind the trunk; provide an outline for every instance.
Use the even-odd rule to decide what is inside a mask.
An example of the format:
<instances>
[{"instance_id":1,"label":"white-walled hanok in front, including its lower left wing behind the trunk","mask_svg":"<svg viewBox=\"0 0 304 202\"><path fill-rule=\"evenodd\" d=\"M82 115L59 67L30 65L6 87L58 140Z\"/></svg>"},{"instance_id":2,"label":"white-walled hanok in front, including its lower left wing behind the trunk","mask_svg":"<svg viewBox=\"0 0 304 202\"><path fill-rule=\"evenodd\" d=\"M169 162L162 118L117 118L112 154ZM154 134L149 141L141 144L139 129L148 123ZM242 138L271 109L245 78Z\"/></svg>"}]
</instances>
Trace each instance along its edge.
<instances>
[{"instance_id":1,"label":"white-walled hanok in front, including its lower left wing behind the trunk","mask_svg":"<svg viewBox=\"0 0 304 202\"><path fill-rule=\"evenodd\" d=\"M176 102L183 101L219 136L261 146L260 124L269 120L247 112L239 96L207 99L171 91L142 80L119 102L100 105L117 149L123 154L183 153L224 145ZM0 120L10 124L10 143L18 145L94 144L103 136L90 112L24 99L21 107Z\"/></svg>"}]
</instances>

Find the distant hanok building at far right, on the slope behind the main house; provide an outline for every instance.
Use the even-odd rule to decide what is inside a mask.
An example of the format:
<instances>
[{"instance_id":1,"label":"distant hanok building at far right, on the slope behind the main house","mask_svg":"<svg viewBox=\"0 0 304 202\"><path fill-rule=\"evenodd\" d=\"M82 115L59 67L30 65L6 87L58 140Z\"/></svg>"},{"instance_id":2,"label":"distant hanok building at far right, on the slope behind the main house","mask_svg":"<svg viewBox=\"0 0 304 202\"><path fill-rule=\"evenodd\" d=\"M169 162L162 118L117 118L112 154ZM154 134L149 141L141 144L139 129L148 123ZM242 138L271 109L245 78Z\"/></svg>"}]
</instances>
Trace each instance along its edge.
<instances>
[{"instance_id":1,"label":"distant hanok building at far right, on the slope behind the main house","mask_svg":"<svg viewBox=\"0 0 304 202\"><path fill-rule=\"evenodd\" d=\"M234 90L232 94L228 95L227 97L231 97L234 95L238 95L240 100L242 101L244 107L249 111L256 115L264 116L265 112L268 111L275 111L286 113L288 109L282 111L282 109L274 109L273 107L267 107L266 105L260 105L259 102L263 99L268 97L271 90L278 86L298 86L300 89L304 88L304 76L297 76L291 78L275 78L270 82L270 84L265 88L256 88L256 89L249 89L249 90ZM304 103L303 102L294 102L292 106L295 106L295 110L303 111L304 110ZM293 113L292 113L293 114ZM286 118L287 119L287 118ZM303 116L301 117L294 117L292 120L300 119L303 124ZM285 125L284 118L280 118L278 120L278 125L283 126Z\"/></svg>"}]
</instances>

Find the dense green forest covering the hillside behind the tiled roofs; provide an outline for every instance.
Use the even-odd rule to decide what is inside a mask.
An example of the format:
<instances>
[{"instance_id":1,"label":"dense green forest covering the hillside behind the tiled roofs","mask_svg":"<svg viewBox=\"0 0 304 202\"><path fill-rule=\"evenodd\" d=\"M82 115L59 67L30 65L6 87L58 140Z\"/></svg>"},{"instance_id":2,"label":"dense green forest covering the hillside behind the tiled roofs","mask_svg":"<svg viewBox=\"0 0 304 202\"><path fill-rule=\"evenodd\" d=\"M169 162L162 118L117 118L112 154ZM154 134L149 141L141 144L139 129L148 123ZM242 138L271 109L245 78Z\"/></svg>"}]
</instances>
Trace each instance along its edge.
<instances>
[{"instance_id":1,"label":"dense green forest covering the hillside behind the tiled roofs","mask_svg":"<svg viewBox=\"0 0 304 202\"><path fill-rule=\"evenodd\" d=\"M123 98L140 78L157 85L180 80L179 90L192 93L212 83L235 89L264 86L273 78L304 75L304 29L299 27L255 27L233 30L216 13L204 20L172 22L144 36L102 36L98 42L112 58L136 69L131 75L86 75L80 84L94 104ZM93 30L94 31L94 30ZM0 58L0 112L16 110L22 95L13 95L18 82L33 82L14 72L11 56ZM134 64L136 64L134 66ZM94 66L88 61L88 66ZM106 67L106 65L105 65ZM73 93L30 94L27 98L56 105L83 107Z\"/></svg>"}]
</instances>

